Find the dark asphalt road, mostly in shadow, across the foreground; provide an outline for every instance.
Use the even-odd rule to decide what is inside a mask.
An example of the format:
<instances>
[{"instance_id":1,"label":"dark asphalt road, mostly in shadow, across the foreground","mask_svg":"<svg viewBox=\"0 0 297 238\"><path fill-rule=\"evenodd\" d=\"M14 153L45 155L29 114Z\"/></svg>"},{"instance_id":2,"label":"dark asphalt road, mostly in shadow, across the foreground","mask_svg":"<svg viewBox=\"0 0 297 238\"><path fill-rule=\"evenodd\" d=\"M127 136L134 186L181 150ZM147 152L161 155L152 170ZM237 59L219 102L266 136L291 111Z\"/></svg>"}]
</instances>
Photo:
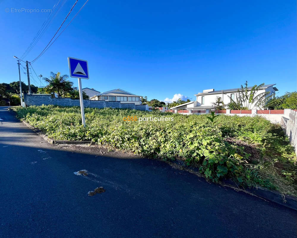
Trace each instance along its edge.
<instances>
[{"instance_id":1,"label":"dark asphalt road, mostly in shadow, across the foreground","mask_svg":"<svg viewBox=\"0 0 297 238\"><path fill-rule=\"evenodd\" d=\"M7 107L0 118L0 237L297 237L294 210L161 161L62 149Z\"/></svg>"}]
</instances>

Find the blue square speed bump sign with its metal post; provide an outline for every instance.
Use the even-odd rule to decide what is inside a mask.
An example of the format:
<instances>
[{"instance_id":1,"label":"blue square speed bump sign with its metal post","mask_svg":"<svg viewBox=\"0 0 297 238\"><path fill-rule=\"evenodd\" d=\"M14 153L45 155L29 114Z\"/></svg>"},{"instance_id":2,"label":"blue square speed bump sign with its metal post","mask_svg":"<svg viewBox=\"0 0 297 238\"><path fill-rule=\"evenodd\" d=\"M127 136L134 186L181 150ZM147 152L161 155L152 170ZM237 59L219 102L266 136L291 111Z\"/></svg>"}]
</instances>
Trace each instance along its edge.
<instances>
[{"instance_id":1,"label":"blue square speed bump sign with its metal post","mask_svg":"<svg viewBox=\"0 0 297 238\"><path fill-rule=\"evenodd\" d=\"M83 90L81 87L81 79L89 79L88 61L68 57L68 65L69 65L70 77L78 78L81 120L83 122L83 126L86 127L85 110L83 107Z\"/></svg>"}]
</instances>

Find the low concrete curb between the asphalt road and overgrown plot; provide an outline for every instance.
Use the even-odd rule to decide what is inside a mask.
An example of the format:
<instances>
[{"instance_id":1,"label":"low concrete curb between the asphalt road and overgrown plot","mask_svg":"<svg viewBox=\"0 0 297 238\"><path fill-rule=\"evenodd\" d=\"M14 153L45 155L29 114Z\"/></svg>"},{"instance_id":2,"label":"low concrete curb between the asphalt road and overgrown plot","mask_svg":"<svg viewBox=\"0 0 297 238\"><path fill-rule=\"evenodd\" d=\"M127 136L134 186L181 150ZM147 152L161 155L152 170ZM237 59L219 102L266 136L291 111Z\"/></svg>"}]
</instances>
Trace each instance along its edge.
<instances>
[{"instance_id":1,"label":"low concrete curb between the asphalt road and overgrown plot","mask_svg":"<svg viewBox=\"0 0 297 238\"><path fill-rule=\"evenodd\" d=\"M12 112L14 112L13 110L10 110ZM15 112L14 112L15 113ZM69 140L53 140L51 138L49 138L47 135L45 135L42 131L40 131L39 129L37 129L34 126L31 126L29 123L22 121L26 126L28 126L30 129L32 129L34 132L36 132L39 136L41 136L45 141L48 141L51 144L60 144L60 145L85 145L85 144L95 144L92 141L69 141ZM197 167L188 167L186 166L186 163L184 161L181 160L173 160L170 161L176 165L181 165L187 169L191 169L194 172L199 172L199 169ZM233 187L238 187L238 184L236 184L234 181L232 180L225 180L224 183L222 185L229 185L229 186L233 186ZM267 190L266 188L263 187L253 187L253 188L246 188L245 191L252 193L260 198L263 198L265 200L277 203L279 205L288 207L290 209L293 209L295 211L297 211L297 198L294 198L292 196L286 195L283 196L280 192L277 191L271 191L271 190Z\"/></svg>"}]
</instances>

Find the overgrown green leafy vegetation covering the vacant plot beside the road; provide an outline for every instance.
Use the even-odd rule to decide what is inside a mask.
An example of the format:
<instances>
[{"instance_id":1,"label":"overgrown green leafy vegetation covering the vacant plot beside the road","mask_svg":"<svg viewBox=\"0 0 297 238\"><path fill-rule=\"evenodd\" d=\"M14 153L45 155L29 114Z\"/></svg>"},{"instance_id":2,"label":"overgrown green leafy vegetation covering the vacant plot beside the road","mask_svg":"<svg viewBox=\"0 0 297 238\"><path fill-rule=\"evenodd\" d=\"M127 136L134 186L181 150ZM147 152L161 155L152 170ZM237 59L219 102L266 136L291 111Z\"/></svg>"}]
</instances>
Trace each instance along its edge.
<instances>
[{"instance_id":1,"label":"overgrown green leafy vegetation covering the vacant plot beside the road","mask_svg":"<svg viewBox=\"0 0 297 238\"><path fill-rule=\"evenodd\" d=\"M281 127L256 117L179 115L130 109L79 107L16 108L18 118L56 140L92 140L101 145L163 160L183 160L207 179L232 179L297 196L296 155ZM124 121L173 117L174 121Z\"/></svg>"}]
</instances>

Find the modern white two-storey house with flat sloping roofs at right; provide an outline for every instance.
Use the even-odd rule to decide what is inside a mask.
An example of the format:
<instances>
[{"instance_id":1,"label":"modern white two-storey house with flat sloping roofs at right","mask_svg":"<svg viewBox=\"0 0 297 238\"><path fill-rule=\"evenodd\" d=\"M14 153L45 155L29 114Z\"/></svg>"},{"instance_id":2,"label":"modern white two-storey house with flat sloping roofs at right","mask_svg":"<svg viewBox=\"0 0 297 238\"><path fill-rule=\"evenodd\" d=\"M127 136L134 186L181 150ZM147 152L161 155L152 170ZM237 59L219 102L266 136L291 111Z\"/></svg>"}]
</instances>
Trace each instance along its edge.
<instances>
[{"instance_id":1,"label":"modern white two-storey house with flat sloping roofs at right","mask_svg":"<svg viewBox=\"0 0 297 238\"><path fill-rule=\"evenodd\" d=\"M258 95L263 92L269 92L269 95L275 95L275 91L278 91L276 87L274 87L275 84L266 84L260 87L260 89L257 91L255 94ZM249 91L252 89L252 87L248 87ZM225 105L230 103L231 97L234 101L236 101L236 95L238 94L237 92L238 88L232 88L232 89L226 89L226 90L217 90L215 91L214 89L208 89L208 90L203 90L202 93L197 93L195 94L196 96L196 101L191 101L188 103L184 103L181 105L178 105L176 107L171 107L171 109L192 109L192 110L205 110L205 109L214 109L212 104L216 101L217 97L221 97L222 101L224 102ZM228 97L229 96L229 97ZM255 107L255 105L251 106L251 109L259 109Z\"/></svg>"}]
</instances>

